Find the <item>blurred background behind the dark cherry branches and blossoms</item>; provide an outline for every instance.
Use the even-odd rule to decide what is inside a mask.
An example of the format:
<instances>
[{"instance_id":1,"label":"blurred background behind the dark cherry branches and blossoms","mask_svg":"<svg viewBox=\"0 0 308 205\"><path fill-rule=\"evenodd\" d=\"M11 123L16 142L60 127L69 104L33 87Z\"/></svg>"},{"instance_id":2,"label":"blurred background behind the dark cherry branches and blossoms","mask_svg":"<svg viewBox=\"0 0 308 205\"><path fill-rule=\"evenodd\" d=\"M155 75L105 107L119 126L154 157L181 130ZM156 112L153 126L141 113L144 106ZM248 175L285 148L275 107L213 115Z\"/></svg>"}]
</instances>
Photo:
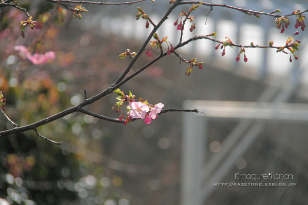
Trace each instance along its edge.
<instances>
[{"instance_id":1,"label":"blurred background behind the dark cherry branches and blossoms","mask_svg":"<svg viewBox=\"0 0 308 205\"><path fill-rule=\"evenodd\" d=\"M137 7L158 23L170 6L164 0L130 6L84 4L89 12L80 20L50 2L16 3L29 9L34 19L45 21L40 30L26 29L22 38L19 21L27 19L22 11L6 7L0 17L0 90L7 100L6 114L20 126L78 105L84 89L91 97L109 87L129 63L118 56L126 49L137 52L150 32L144 19L135 19ZM307 8L306 1L209 3L265 12L279 8L282 14ZM179 31L174 22L189 8L177 8L158 30L159 37L168 36L177 45ZM192 13L196 30L190 33L187 24L184 40L216 31L218 40L227 36L242 45L268 45L273 40L274 46L282 46L296 31L294 16L281 34L273 17L257 18L217 7L208 14L209 10L204 6ZM37 137L34 131L1 137L0 198L10 204L306 204L308 130L302 117L308 97L306 36L306 31L296 36L302 45L299 60L293 57L293 63L290 54L275 49L246 49L247 63L242 55L237 62L238 48L226 48L222 57L222 50L214 49L216 43L202 39L179 49L184 58L203 61L202 70L194 68L185 76L188 66L179 65L171 54L121 87L150 104L198 108L205 114L166 113L150 125L136 120L124 126L73 113L37 129L52 140L65 141L62 146ZM52 50L56 59L35 66L13 50L16 45L25 45L32 53ZM134 69L157 54L156 49L151 57L142 54ZM85 109L117 118L111 112L115 97L110 94ZM268 104L236 104L255 111L243 119L226 116L227 109L236 107L232 101ZM295 112L294 118L257 117L258 109L273 110L281 103L287 104L279 107L278 114ZM215 113L214 108L223 112ZM241 112L246 113L241 109L235 113ZM1 130L12 128L4 117L0 123ZM287 182L297 185L213 186L213 182L252 182L235 179L235 173L292 174Z\"/></svg>"}]
</instances>

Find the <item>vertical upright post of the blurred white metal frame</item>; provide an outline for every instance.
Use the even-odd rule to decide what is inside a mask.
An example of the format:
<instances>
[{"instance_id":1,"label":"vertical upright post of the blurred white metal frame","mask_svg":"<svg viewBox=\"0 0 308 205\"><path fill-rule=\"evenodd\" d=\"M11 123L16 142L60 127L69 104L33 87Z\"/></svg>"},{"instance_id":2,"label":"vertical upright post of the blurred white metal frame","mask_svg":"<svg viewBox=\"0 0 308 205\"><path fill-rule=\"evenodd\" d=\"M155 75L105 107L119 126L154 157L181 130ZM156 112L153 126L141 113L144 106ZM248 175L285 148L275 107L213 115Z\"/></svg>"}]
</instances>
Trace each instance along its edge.
<instances>
[{"instance_id":1,"label":"vertical upright post of the blurred white metal frame","mask_svg":"<svg viewBox=\"0 0 308 205\"><path fill-rule=\"evenodd\" d=\"M184 109L191 109L185 101ZM200 172L205 163L207 118L198 113L183 113L181 205L202 205L200 197L203 181Z\"/></svg>"}]
</instances>

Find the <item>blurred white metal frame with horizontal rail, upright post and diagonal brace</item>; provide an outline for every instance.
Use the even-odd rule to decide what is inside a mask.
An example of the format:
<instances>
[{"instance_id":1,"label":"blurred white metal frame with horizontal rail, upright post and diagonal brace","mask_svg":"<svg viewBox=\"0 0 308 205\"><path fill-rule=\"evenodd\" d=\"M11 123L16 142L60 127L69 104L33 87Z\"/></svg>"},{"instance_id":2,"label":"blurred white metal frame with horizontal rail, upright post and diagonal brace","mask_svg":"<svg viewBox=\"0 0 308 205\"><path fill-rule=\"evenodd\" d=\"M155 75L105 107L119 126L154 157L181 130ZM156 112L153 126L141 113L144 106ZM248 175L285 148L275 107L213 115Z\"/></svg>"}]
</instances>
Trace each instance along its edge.
<instances>
[{"instance_id":1,"label":"blurred white metal frame with horizontal rail, upright post and diagonal brace","mask_svg":"<svg viewBox=\"0 0 308 205\"><path fill-rule=\"evenodd\" d=\"M236 159L251 146L267 120L308 121L308 105L278 103L287 97L285 91L282 94L274 100L276 103L208 100L184 102L184 109L198 109L205 114L183 113L181 205L203 205L216 188L213 183L221 182ZM206 162L207 121L212 117L252 120L240 124L238 129L231 132L222 142L222 150ZM240 139L245 127L253 122L251 129Z\"/></svg>"}]
</instances>

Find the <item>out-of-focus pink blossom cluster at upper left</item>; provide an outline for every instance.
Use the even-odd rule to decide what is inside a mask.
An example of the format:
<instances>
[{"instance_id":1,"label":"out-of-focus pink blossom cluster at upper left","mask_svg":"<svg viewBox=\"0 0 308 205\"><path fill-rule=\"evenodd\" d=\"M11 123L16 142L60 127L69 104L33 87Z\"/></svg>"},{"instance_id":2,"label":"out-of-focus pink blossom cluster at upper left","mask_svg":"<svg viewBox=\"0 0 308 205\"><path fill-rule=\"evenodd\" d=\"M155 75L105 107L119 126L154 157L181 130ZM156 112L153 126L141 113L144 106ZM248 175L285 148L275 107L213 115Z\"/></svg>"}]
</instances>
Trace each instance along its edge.
<instances>
[{"instance_id":1,"label":"out-of-focus pink blossom cluster at upper left","mask_svg":"<svg viewBox=\"0 0 308 205\"><path fill-rule=\"evenodd\" d=\"M25 46L15 46L15 51L19 51L21 56L27 57L34 65L46 64L48 59L55 59L55 52L48 51L45 54L31 54Z\"/></svg>"}]
</instances>

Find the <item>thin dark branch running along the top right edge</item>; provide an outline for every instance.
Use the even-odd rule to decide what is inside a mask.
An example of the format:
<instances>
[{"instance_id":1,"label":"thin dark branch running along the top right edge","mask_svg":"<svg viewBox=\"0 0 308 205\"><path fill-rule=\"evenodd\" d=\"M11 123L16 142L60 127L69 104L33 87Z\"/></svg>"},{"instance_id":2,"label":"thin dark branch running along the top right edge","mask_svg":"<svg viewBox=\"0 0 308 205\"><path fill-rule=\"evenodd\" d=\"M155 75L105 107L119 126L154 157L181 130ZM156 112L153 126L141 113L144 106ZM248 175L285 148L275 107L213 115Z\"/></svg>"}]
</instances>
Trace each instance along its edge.
<instances>
[{"instance_id":1,"label":"thin dark branch running along the top right edge","mask_svg":"<svg viewBox=\"0 0 308 205\"><path fill-rule=\"evenodd\" d=\"M238 10L238 11L241 11L245 14L248 14L248 15L268 15L268 16L273 16L273 17L282 17L282 16L293 16L293 15L296 15L296 14L287 14L287 15L280 15L280 14L273 14L272 13L266 13L266 12L261 12L261 11L254 11L254 10L249 10L249 9L242 9L242 8L238 8L238 7L233 7L233 6L228 6L228 5L225 5L225 4L209 4L209 3L203 3L203 2L180 2L179 3L180 5L185 5L185 4L202 4L204 6L209 6L211 8L213 7L226 7L226 8L229 8L229 9L234 9L234 10ZM301 14L301 13L305 13L307 12L308 9L300 12L300 13L297 13L297 14Z\"/></svg>"}]
</instances>

